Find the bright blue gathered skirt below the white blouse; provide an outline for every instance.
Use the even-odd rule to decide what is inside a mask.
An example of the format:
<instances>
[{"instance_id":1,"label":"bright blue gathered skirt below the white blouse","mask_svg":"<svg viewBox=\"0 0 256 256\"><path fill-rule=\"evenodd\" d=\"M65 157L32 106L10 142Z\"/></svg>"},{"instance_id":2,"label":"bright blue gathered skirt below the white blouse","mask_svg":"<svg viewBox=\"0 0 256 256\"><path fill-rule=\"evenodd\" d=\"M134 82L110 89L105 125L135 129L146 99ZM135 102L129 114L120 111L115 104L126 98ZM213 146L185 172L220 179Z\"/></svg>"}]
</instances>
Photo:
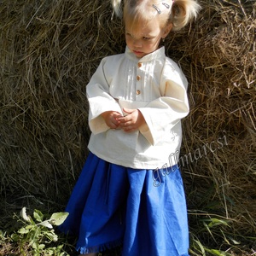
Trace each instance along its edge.
<instances>
[{"instance_id":1,"label":"bright blue gathered skirt below the white blouse","mask_svg":"<svg viewBox=\"0 0 256 256\"><path fill-rule=\"evenodd\" d=\"M79 253L122 245L123 256L186 256L187 208L177 166L132 169L89 154L61 225Z\"/></svg>"}]
</instances>

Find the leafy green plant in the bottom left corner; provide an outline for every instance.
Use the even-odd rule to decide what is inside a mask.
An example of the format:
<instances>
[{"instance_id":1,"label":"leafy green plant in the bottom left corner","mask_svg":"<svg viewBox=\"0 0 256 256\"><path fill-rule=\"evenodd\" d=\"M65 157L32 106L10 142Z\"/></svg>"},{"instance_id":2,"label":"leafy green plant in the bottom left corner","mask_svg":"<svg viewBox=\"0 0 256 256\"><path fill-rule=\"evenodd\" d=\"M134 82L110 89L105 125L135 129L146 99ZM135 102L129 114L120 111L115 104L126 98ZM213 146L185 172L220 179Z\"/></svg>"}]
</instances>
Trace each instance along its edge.
<instances>
[{"instance_id":1,"label":"leafy green plant in the bottom left corner","mask_svg":"<svg viewBox=\"0 0 256 256\"><path fill-rule=\"evenodd\" d=\"M59 226L67 218L67 212L55 212L50 218L45 218L44 214L34 210L33 218L26 214L26 207L20 212L20 217L16 216L22 223L20 230L12 234L11 238L20 244L20 253L26 255L26 251L32 255L68 255L63 250L63 244L55 245L58 236L55 234L54 226Z\"/></svg>"}]
</instances>

